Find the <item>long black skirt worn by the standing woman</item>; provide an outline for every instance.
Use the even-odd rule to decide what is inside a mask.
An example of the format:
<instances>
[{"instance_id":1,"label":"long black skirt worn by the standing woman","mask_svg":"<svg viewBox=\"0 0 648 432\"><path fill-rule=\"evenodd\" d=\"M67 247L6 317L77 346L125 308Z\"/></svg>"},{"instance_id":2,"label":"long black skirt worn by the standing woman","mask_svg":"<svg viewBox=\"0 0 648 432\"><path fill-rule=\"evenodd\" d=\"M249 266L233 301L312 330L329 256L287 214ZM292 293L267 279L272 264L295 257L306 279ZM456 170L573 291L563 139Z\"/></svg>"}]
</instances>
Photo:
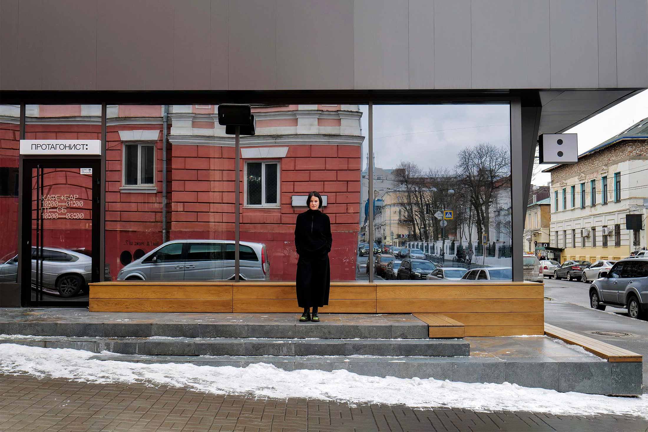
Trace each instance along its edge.
<instances>
[{"instance_id":1,"label":"long black skirt worn by the standing woman","mask_svg":"<svg viewBox=\"0 0 648 432\"><path fill-rule=\"evenodd\" d=\"M297 260L297 304L300 308L329 304L329 255Z\"/></svg>"}]
</instances>

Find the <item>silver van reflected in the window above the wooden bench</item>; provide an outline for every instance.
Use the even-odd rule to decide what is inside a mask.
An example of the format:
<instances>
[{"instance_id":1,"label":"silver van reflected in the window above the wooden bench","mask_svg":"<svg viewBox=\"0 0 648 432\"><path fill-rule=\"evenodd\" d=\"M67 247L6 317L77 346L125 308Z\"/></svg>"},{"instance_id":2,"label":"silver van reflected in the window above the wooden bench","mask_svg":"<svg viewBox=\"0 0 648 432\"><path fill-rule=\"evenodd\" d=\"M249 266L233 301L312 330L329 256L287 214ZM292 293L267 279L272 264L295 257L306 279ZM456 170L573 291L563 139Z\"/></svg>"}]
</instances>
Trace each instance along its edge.
<instances>
[{"instance_id":1,"label":"silver van reflected in the window above the wooden bench","mask_svg":"<svg viewBox=\"0 0 648 432\"><path fill-rule=\"evenodd\" d=\"M124 266L117 280L232 280L233 240L173 240ZM240 242L239 277L270 280L268 250L262 243Z\"/></svg>"}]
</instances>

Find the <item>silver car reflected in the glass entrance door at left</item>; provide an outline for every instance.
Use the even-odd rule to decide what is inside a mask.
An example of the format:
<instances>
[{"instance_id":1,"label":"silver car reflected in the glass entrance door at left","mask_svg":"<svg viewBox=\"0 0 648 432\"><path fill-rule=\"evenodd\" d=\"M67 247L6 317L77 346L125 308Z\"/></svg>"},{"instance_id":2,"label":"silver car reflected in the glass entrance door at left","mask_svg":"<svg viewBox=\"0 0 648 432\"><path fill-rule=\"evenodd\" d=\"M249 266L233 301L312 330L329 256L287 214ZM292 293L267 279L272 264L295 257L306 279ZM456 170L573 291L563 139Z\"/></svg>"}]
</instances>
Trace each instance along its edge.
<instances>
[{"instance_id":1,"label":"silver car reflected in the glass entrance door at left","mask_svg":"<svg viewBox=\"0 0 648 432\"><path fill-rule=\"evenodd\" d=\"M36 247L32 247L32 288L36 286L36 266L40 259ZM0 264L0 282L16 282L18 256ZM43 247L43 291L61 297L74 297L87 290L92 280L92 258L83 249L62 249Z\"/></svg>"}]
</instances>

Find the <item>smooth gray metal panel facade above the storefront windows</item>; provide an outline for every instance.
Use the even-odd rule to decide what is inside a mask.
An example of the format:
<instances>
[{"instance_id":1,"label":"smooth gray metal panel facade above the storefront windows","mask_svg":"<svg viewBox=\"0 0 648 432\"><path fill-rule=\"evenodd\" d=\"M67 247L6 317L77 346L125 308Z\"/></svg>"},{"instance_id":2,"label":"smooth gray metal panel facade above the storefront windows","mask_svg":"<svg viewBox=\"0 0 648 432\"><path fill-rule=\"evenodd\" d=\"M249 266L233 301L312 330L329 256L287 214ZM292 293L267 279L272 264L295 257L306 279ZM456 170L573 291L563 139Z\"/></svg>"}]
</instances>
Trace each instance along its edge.
<instances>
[{"instance_id":1,"label":"smooth gray metal panel facade above the storefront windows","mask_svg":"<svg viewBox=\"0 0 648 432\"><path fill-rule=\"evenodd\" d=\"M648 87L645 0L3 0L0 12L3 90Z\"/></svg>"}]
</instances>

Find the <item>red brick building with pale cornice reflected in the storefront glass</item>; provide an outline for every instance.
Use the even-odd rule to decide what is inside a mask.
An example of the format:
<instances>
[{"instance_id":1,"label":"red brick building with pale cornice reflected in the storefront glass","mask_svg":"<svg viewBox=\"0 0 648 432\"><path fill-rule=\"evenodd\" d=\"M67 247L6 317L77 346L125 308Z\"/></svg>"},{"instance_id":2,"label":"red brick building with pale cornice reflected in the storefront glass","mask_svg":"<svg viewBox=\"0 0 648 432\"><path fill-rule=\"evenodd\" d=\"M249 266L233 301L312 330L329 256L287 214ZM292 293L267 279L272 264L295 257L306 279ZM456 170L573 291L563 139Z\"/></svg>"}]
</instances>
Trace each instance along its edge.
<instances>
[{"instance_id":1,"label":"red brick building with pale cornice reflected in the storefront glass","mask_svg":"<svg viewBox=\"0 0 648 432\"><path fill-rule=\"evenodd\" d=\"M108 106L105 246L113 278L164 240L234 239L234 137L218 125L216 111L214 105ZM257 135L241 139L240 240L268 246L272 280L294 280L295 219L307 208L308 192L318 190L326 197L323 211L332 223L331 277L354 280L362 112L357 105L282 105L255 106L253 113ZM25 138L100 139L100 128L99 106L28 106ZM17 169L17 115L15 124L2 122L0 130L0 166ZM83 179L58 170L45 176L43 192L90 196L79 183ZM17 230L17 198L0 200L7 209L0 223ZM45 238L56 243L52 245L72 249L89 244L82 238L89 233L73 234L65 223L45 221ZM13 237L3 237L0 255L15 253L15 247Z\"/></svg>"}]
</instances>

